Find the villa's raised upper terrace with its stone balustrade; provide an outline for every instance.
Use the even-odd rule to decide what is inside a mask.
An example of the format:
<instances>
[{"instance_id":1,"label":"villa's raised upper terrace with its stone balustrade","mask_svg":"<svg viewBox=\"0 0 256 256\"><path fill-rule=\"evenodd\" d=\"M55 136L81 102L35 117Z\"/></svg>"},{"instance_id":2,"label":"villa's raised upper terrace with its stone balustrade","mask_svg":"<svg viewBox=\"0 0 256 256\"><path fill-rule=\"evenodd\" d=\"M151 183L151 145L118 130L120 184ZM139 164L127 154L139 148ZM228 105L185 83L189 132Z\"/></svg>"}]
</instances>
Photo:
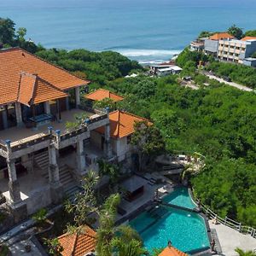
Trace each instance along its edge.
<instances>
[{"instance_id":1,"label":"villa's raised upper terrace with its stone balustrade","mask_svg":"<svg viewBox=\"0 0 256 256\"><path fill-rule=\"evenodd\" d=\"M87 124L83 125L83 127L80 127L78 129L73 129L73 131L68 131L66 128L66 123L74 122L74 116L76 114L82 113L86 113L86 115L89 117ZM76 137L79 134L88 131L88 127L90 127L90 130L93 130L97 127L102 126L102 120L108 121L107 113L93 113L92 111L89 112L82 109L72 109L61 113L61 122L52 121L50 124L45 124L38 127L37 131L26 127L13 127L0 131L0 155L2 154L4 157L6 157L8 151L5 143L6 140L10 140L10 148L12 152L20 151L20 149L31 148L31 150L27 150L28 152L26 152L31 153L35 150L48 147L49 142L53 137L55 141L57 140L57 134L55 132L49 134L49 126L52 127L53 131L60 131L58 133L58 137L60 139L59 144L61 144L61 148L63 148L65 146L63 144L65 140L71 137ZM39 148L32 148L38 146L38 144L42 145ZM16 155L16 157L20 157L20 155L18 154Z\"/></svg>"}]
</instances>

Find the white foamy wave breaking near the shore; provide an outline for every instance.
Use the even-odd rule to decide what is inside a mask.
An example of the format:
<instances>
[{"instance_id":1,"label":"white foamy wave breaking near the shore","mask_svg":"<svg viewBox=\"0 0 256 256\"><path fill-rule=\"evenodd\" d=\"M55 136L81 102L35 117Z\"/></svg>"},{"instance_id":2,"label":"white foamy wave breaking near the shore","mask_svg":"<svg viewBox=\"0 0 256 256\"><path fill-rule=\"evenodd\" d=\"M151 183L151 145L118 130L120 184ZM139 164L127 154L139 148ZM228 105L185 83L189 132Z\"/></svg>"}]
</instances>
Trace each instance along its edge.
<instances>
[{"instance_id":1,"label":"white foamy wave breaking near the shore","mask_svg":"<svg viewBox=\"0 0 256 256\"><path fill-rule=\"evenodd\" d=\"M114 49L126 57L140 56L172 56L179 54L182 50L178 49Z\"/></svg>"}]
</instances>

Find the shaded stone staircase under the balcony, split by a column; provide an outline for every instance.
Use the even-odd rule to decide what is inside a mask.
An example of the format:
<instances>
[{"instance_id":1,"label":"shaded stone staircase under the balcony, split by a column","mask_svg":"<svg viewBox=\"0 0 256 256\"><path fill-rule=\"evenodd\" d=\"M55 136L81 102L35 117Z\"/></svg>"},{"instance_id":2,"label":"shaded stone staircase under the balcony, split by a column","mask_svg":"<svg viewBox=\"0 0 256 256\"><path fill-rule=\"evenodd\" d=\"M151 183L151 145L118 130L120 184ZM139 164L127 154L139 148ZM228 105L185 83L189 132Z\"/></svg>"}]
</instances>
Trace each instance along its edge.
<instances>
[{"instance_id":1,"label":"shaded stone staircase under the balcony, split by a column","mask_svg":"<svg viewBox=\"0 0 256 256\"><path fill-rule=\"evenodd\" d=\"M43 177L49 180L49 155L48 152L43 152L40 154L36 154L34 156L34 161L38 168L40 168L43 172ZM59 166L60 172L60 181L63 186L65 195L68 199L73 199L74 195L81 191L81 188L78 186L76 181L73 179L72 169L67 165Z\"/></svg>"}]
</instances>

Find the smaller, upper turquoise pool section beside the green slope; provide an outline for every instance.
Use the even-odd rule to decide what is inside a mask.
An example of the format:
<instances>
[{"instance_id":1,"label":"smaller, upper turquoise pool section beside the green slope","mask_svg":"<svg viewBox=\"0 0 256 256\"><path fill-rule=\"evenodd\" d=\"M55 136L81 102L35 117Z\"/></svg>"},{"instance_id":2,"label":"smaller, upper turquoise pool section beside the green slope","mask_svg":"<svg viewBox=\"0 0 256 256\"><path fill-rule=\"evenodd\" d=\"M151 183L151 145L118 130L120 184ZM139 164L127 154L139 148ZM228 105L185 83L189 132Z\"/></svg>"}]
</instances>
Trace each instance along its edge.
<instances>
[{"instance_id":1,"label":"smaller, upper turquoise pool section beside the green slope","mask_svg":"<svg viewBox=\"0 0 256 256\"><path fill-rule=\"evenodd\" d=\"M187 188L175 189L171 194L166 195L163 198L166 203L171 203L179 207L186 207L189 209L194 209L196 207L195 203L191 200L189 191Z\"/></svg>"}]
</instances>

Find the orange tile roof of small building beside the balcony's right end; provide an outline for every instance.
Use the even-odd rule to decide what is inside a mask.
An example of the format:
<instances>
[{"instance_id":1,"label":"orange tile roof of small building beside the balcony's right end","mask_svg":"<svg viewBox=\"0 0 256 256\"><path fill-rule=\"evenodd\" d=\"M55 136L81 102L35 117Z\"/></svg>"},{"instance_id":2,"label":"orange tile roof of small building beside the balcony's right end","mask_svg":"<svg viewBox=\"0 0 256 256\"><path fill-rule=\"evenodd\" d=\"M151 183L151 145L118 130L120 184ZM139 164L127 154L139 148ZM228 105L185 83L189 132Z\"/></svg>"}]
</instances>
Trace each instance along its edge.
<instances>
[{"instance_id":1,"label":"orange tile roof of small building beside the balcony's right end","mask_svg":"<svg viewBox=\"0 0 256 256\"><path fill-rule=\"evenodd\" d=\"M123 112L120 110L113 111L109 113L110 121L110 136L111 137L127 137L134 132L135 122L147 121L149 124L152 124L148 119L143 119L132 113ZM104 126L96 129L96 131L104 134Z\"/></svg>"}]
</instances>

